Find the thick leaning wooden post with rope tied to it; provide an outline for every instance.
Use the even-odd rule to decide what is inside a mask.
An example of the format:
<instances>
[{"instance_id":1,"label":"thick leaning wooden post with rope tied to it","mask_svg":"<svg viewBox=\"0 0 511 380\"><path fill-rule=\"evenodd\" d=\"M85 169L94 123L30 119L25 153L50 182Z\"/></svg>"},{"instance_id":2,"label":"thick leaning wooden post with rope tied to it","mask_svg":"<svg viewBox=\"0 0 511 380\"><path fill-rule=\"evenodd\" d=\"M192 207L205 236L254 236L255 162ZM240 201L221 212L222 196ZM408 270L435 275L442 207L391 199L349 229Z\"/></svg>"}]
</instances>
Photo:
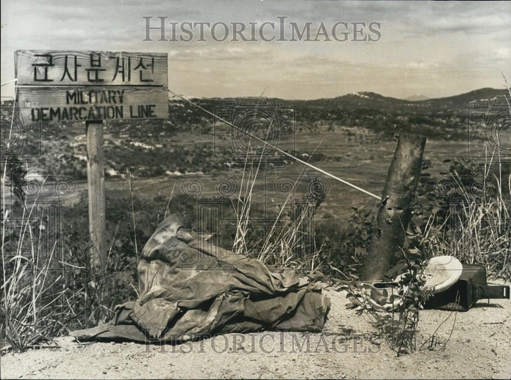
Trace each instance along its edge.
<instances>
[{"instance_id":1,"label":"thick leaning wooden post with rope tied to it","mask_svg":"<svg viewBox=\"0 0 511 380\"><path fill-rule=\"evenodd\" d=\"M426 137L401 133L388 169L377 225L364 263L364 281L379 281L405 241L411 204L421 175Z\"/></svg>"}]
</instances>

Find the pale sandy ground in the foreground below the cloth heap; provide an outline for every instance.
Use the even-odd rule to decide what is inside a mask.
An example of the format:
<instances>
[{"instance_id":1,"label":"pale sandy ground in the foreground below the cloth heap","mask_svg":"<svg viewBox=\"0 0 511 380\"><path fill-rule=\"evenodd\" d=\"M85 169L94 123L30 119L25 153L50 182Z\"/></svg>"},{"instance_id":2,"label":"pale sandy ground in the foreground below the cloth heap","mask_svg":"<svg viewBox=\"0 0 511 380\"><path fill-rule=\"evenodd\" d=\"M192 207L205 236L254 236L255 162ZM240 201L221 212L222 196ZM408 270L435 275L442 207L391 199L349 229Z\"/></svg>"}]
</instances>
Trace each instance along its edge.
<instances>
[{"instance_id":1,"label":"pale sandy ground in the foreground below the cloth heap","mask_svg":"<svg viewBox=\"0 0 511 380\"><path fill-rule=\"evenodd\" d=\"M509 378L511 304L479 301L457 313L450 342L396 358L378 346L364 316L345 310L345 293L326 290L332 308L323 334L228 334L180 346L78 344L1 357L1 377L12 378ZM449 312L421 312L419 346ZM445 339L454 313L439 329ZM309 342L309 343L307 343Z\"/></svg>"}]
</instances>

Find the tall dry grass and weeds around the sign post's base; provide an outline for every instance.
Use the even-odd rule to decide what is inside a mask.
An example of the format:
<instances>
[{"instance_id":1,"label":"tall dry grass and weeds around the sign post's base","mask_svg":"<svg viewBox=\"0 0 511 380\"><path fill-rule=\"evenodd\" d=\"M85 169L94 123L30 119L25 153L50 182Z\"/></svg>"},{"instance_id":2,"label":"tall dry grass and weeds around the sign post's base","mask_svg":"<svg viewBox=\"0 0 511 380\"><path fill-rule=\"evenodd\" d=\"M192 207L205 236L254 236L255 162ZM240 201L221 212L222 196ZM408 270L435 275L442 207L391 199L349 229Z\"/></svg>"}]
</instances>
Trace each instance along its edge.
<instances>
[{"instance_id":1,"label":"tall dry grass and weeds around the sign post's base","mask_svg":"<svg viewBox=\"0 0 511 380\"><path fill-rule=\"evenodd\" d=\"M137 294L132 278L136 265L135 269L127 267L123 254L112 250L113 241L108 250L108 268L100 273L91 266L87 239L70 230L64 234L61 223L59 231L45 230L45 216L37 210L39 194L28 200L23 193L26 185L22 177L8 174L6 161L0 262L2 351L24 351L51 343L70 327L104 323L113 316L115 305L128 300L130 294ZM12 217L14 211L19 212L19 218ZM48 233L52 239L47 239ZM117 230L113 240L116 236Z\"/></svg>"}]
</instances>

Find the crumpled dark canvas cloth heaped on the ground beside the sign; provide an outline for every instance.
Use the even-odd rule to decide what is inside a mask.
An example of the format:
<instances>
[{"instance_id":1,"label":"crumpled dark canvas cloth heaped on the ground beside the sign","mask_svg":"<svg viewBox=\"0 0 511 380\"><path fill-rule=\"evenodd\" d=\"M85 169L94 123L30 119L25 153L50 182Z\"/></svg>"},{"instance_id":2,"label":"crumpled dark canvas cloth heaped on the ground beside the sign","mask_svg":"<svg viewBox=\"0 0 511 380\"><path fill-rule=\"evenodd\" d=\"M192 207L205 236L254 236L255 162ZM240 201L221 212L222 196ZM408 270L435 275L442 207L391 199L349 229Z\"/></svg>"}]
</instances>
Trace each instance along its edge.
<instances>
[{"instance_id":1,"label":"crumpled dark canvas cloth heaped on the ground beside the sign","mask_svg":"<svg viewBox=\"0 0 511 380\"><path fill-rule=\"evenodd\" d=\"M158 226L138 263L141 295L110 323L72 331L81 339L180 342L265 329L319 332L328 297L307 278L270 271L257 259L216 247L177 216Z\"/></svg>"}]
</instances>

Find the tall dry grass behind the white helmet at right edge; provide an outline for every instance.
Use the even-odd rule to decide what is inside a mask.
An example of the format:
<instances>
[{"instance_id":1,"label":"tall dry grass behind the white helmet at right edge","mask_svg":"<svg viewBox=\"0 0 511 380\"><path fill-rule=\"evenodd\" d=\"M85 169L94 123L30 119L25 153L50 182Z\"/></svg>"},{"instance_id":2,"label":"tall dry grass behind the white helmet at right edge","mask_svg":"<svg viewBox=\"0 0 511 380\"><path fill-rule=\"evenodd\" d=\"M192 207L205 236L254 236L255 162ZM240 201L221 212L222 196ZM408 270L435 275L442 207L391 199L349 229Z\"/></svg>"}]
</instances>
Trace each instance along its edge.
<instances>
[{"instance_id":1,"label":"tall dry grass behind the white helmet at right edge","mask_svg":"<svg viewBox=\"0 0 511 380\"><path fill-rule=\"evenodd\" d=\"M511 99L511 90L507 89ZM506 97L511 115L509 99ZM457 170L448 170L451 191L460 197L451 204L443 223L437 223L435 215L430 216L424 236L428 240L430 255L453 255L461 263L482 264L491 277L509 280L511 171L506 167L509 164L503 162L500 147L500 141L497 141L493 151L486 148L480 175L472 183L467 184L464 174Z\"/></svg>"}]
</instances>

